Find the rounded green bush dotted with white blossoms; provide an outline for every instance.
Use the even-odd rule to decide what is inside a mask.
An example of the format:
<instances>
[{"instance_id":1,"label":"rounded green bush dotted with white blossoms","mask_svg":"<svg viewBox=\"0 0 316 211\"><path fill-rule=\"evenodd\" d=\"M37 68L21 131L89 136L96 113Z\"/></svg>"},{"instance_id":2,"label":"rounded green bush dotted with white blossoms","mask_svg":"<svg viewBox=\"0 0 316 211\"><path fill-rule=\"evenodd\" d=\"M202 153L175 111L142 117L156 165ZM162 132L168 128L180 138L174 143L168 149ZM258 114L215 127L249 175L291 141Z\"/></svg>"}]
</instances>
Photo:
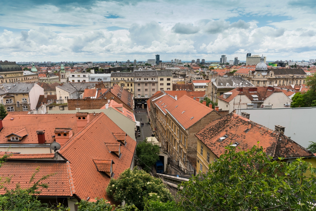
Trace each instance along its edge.
<instances>
[{"instance_id":1,"label":"rounded green bush dotted with white blossoms","mask_svg":"<svg viewBox=\"0 0 316 211\"><path fill-rule=\"evenodd\" d=\"M140 210L143 210L144 198L151 193L156 193L161 202L173 200L173 196L160 178L152 177L149 173L138 170L137 167L133 171L125 170L118 179L111 179L106 193L116 202L125 201L128 204L135 204Z\"/></svg>"}]
</instances>

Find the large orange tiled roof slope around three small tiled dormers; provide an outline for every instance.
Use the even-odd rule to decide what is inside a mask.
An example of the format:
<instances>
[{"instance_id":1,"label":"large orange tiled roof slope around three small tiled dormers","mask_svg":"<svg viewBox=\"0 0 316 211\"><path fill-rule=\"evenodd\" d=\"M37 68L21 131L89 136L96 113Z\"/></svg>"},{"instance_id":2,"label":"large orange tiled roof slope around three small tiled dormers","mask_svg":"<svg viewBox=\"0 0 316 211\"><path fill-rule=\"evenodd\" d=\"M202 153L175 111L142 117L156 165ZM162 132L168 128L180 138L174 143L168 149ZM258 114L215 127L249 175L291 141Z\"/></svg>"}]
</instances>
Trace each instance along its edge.
<instances>
[{"instance_id":1,"label":"large orange tiled roof slope around three small tiled dormers","mask_svg":"<svg viewBox=\"0 0 316 211\"><path fill-rule=\"evenodd\" d=\"M110 153L105 145L105 142L118 143L113 133L123 134L124 131L104 113L100 113L58 152L70 162L75 193L80 199L108 199L106 187L110 178L97 171L93 160L113 160L114 178L131 167L136 141L127 135L126 145L121 146L122 156L118 158Z\"/></svg>"}]
</instances>

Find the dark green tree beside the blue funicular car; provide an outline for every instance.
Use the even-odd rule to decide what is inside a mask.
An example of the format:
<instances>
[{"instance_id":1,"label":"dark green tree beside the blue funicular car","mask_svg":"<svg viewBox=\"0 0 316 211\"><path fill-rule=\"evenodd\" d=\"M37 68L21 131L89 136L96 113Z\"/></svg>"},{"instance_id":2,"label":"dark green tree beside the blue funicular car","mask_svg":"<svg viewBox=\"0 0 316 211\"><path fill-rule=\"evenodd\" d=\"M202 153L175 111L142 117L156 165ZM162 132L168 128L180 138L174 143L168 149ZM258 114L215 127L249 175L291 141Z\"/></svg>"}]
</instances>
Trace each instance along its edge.
<instances>
[{"instance_id":1,"label":"dark green tree beside the blue funicular car","mask_svg":"<svg viewBox=\"0 0 316 211\"><path fill-rule=\"evenodd\" d=\"M160 148L145 140L139 142L136 147L136 163L146 172L159 160Z\"/></svg>"}]
</instances>

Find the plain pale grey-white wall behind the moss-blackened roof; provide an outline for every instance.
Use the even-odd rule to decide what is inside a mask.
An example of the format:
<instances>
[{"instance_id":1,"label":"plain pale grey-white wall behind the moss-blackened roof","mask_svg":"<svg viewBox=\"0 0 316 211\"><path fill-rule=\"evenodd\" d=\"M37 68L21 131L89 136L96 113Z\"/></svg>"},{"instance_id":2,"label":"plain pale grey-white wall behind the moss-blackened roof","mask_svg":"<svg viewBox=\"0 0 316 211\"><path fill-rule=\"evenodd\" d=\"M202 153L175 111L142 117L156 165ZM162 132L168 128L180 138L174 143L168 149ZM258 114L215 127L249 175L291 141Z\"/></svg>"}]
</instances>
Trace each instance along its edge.
<instances>
[{"instance_id":1,"label":"plain pale grey-white wall behind the moss-blackened roof","mask_svg":"<svg viewBox=\"0 0 316 211\"><path fill-rule=\"evenodd\" d=\"M296 143L308 147L315 142L316 107L279 109L241 109L250 114L250 120L274 130L275 125L285 127L284 135ZM240 114L240 112L238 112ZM260 140L258 140L260 141Z\"/></svg>"}]
</instances>

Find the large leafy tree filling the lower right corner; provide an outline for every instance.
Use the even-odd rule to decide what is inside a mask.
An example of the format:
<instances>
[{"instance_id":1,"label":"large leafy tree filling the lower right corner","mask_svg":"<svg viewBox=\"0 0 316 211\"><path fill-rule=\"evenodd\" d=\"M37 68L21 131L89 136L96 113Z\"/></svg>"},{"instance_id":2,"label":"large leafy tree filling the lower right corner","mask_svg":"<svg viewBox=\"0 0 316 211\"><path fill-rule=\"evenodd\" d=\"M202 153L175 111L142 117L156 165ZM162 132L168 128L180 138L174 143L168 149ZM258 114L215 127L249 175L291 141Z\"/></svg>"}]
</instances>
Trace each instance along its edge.
<instances>
[{"instance_id":1,"label":"large leafy tree filling the lower right corner","mask_svg":"<svg viewBox=\"0 0 316 211\"><path fill-rule=\"evenodd\" d=\"M304 173L315 169L301 158L291 164L283 159L272 160L262 147L236 152L228 146L206 175L181 184L180 204L190 211L314 210L316 177Z\"/></svg>"}]
</instances>

